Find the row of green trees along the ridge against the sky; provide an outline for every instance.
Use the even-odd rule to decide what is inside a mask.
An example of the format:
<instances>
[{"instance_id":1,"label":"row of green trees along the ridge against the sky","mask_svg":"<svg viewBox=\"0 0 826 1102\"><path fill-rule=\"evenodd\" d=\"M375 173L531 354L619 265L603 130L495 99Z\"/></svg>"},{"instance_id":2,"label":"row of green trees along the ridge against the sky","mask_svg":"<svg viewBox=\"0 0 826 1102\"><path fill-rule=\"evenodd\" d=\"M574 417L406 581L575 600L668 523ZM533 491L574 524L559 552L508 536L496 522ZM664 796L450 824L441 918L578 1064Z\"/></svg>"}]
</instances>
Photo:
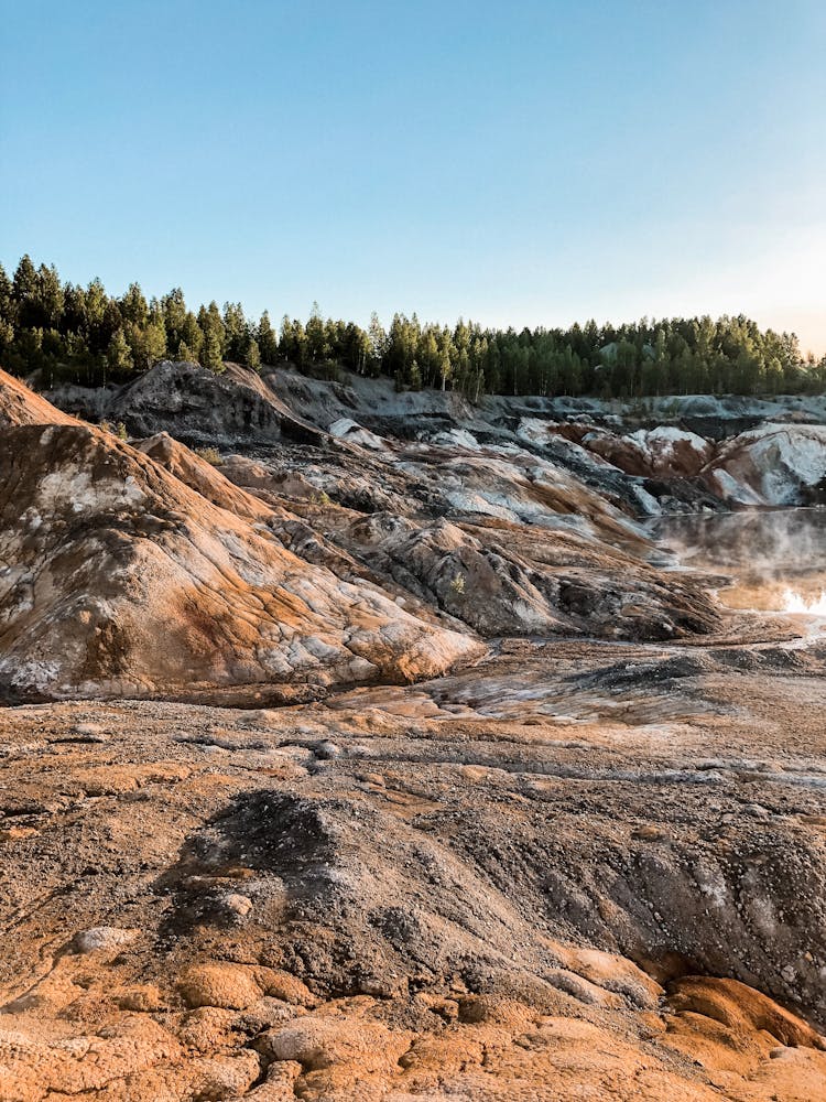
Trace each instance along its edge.
<instances>
[{"instance_id":1,"label":"row of green trees along the ridge against the sky","mask_svg":"<svg viewBox=\"0 0 826 1102\"><path fill-rule=\"evenodd\" d=\"M776 395L826 388L826 356L803 357L792 333L761 329L748 317L708 316L569 328L486 328L395 314L388 328L373 314L367 329L322 316L284 316L240 303L191 310L176 288L146 299L138 283L107 294L62 282L54 266L24 256L9 278L0 266L0 364L36 372L41 385L121 383L161 359L214 371L227 363L254 370L291 365L336 378L345 368L389 376L399 389L439 388L478 400L483 393L641 398L678 393Z\"/></svg>"}]
</instances>

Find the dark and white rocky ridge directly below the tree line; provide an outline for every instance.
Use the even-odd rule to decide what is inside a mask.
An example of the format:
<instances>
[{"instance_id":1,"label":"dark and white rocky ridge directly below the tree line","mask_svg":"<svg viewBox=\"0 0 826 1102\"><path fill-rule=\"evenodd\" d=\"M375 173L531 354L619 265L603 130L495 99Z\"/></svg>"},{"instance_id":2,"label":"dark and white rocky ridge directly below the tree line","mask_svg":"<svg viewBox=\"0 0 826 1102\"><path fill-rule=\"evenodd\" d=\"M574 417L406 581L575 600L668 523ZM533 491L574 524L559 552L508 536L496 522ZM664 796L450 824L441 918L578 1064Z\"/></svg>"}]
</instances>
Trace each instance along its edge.
<instances>
[{"instance_id":1,"label":"dark and white rocky ridge directly below the tree line","mask_svg":"<svg viewBox=\"0 0 826 1102\"><path fill-rule=\"evenodd\" d=\"M160 364L117 391L64 388L68 412L124 421L134 435L169 431L221 450L327 434L380 454L382 440L458 453L528 453L569 471L632 515L814 505L826 489L826 400L818 397L649 399L482 398L396 393L387 379L314 381L286 369L222 376Z\"/></svg>"}]
</instances>

